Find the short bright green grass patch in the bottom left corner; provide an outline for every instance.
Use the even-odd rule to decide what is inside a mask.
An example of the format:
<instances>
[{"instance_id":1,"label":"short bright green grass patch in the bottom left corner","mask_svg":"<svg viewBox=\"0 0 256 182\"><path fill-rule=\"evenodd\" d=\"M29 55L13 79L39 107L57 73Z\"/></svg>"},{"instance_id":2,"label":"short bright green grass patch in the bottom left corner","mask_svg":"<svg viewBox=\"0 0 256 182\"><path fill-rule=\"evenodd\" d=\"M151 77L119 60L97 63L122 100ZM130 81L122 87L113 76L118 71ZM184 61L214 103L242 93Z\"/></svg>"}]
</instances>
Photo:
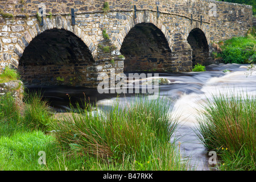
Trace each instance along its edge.
<instances>
[{"instance_id":1,"label":"short bright green grass patch in the bottom left corner","mask_svg":"<svg viewBox=\"0 0 256 182\"><path fill-rule=\"evenodd\" d=\"M49 170L49 164L56 163L57 149L54 138L42 131L19 131L13 135L0 137L1 170ZM46 152L46 165L39 165L39 151ZM52 168L50 168L52 169ZM54 168L53 168L54 169Z\"/></svg>"}]
</instances>

